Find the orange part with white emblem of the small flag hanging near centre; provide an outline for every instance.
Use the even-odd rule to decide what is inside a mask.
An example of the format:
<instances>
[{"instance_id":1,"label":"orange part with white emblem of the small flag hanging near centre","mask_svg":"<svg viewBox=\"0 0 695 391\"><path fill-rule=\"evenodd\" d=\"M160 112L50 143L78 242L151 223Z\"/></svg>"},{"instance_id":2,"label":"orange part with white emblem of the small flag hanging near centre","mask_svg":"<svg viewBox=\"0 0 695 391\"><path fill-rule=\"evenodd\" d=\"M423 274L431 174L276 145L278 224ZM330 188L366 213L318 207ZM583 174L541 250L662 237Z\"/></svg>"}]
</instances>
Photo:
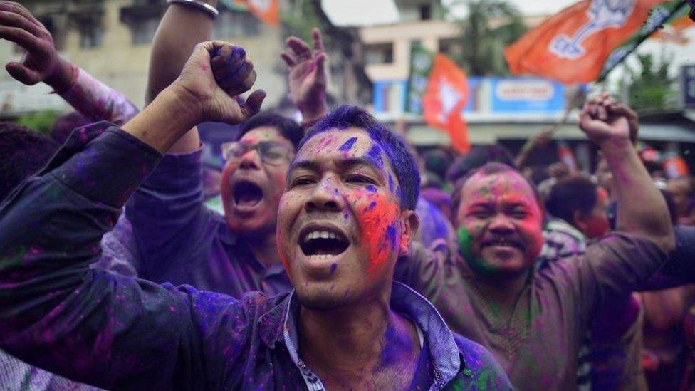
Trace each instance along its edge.
<instances>
[{"instance_id":1,"label":"orange part with white emblem of the small flag hanging near centre","mask_svg":"<svg viewBox=\"0 0 695 391\"><path fill-rule=\"evenodd\" d=\"M467 99L466 73L444 54L434 55L427 89L422 96L422 115L429 126L449 132L451 145L461 153L471 149L468 126L461 118Z\"/></svg>"}]
</instances>

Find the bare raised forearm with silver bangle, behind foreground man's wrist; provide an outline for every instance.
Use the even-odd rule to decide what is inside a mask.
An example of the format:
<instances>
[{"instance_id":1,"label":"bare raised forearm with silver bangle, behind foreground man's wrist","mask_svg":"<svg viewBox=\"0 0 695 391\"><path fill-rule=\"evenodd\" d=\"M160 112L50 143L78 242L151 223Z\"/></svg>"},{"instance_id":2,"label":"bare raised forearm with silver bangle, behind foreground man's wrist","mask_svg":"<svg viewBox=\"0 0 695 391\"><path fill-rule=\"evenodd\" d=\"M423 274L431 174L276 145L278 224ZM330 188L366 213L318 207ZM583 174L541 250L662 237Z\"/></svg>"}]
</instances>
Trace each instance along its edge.
<instances>
[{"instance_id":1,"label":"bare raised forearm with silver bangle, behind foreground man's wrist","mask_svg":"<svg viewBox=\"0 0 695 391\"><path fill-rule=\"evenodd\" d=\"M206 1L216 6L216 0ZM147 79L146 104L176 78L197 43L212 36L212 19L202 11L171 4L160 22L152 43L150 75ZM174 143L168 152L191 152L200 145L197 128L191 129Z\"/></svg>"}]
</instances>

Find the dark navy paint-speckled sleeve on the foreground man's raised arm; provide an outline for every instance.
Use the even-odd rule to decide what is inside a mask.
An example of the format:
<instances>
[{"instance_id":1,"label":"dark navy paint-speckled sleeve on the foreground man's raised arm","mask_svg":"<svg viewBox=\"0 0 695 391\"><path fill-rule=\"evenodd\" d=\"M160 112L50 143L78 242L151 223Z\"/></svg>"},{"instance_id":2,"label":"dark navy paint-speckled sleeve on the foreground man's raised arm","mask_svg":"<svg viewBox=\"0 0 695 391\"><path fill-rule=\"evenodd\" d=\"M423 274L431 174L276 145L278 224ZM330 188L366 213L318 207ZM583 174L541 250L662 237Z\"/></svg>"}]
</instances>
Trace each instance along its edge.
<instances>
[{"instance_id":1,"label":"dark navy paint-speckled sleeve on the foreground man's raised arm","mask_svg":"<svg viewBox=\"0 0 695 391\"><path fill-rule=\"evenodd\" d=\"M227 296L90 269L120 207L160 160L115 127L80 142L104 127L73 132L0 207L0 348L108 389L204 387L204 340L235 330L225 355L238 363L244 310ZM220 308L225 316L211 314Z\"/></svg>"}]
</instances>

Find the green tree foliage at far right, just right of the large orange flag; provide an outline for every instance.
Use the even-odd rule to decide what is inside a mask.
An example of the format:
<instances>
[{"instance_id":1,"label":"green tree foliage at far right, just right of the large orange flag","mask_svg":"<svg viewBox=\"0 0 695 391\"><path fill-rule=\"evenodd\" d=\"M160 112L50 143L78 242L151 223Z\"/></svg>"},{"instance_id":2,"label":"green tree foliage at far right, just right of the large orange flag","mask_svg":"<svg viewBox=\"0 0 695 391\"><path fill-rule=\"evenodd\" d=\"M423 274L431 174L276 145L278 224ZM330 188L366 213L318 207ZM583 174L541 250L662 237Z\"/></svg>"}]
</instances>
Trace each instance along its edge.
<instances>
[{"instance_id":1,"label":"green tree foliage at far right, just right of the large orange flag","mask_svg":"<svg viewBox=\"0 0 695 391\"><path fill-rule=\"evenodd\" d=\"M669 77L669 64L663 56L655 61L651 54L638 54L641 71L626 69L632 83L628 88L629 104L635 110L669 110L673 108L676 91L672 88L674 78Z\"/></svg>"}]
</instances>

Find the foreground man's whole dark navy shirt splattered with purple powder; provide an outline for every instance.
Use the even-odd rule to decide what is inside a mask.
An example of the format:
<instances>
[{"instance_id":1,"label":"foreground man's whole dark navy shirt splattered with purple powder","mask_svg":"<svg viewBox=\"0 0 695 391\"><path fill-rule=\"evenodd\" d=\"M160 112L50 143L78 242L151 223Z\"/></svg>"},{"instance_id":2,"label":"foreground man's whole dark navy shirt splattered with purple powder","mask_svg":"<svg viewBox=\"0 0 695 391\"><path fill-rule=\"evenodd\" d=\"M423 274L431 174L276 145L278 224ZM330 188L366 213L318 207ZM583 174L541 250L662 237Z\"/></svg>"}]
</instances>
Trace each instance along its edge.
<instances>
[{"instance_id":1,"label":"foreground man's whole dark navy shirt splattered with purple powder","mask_svg":"<svg viewBox=\"0 0 695 391\"><path fill-rule=\"evenodd\" d=\"M0 208L0 348L107 389L307 389L310 372L291 353L293 295L236 299L90 268L161 159L115 127L93 139L105 127L73 132ZM451 333L422 296L394 283L391 306L424 336L415 389L511 389L491 354Z\"/></svg>"}]
</instances>

